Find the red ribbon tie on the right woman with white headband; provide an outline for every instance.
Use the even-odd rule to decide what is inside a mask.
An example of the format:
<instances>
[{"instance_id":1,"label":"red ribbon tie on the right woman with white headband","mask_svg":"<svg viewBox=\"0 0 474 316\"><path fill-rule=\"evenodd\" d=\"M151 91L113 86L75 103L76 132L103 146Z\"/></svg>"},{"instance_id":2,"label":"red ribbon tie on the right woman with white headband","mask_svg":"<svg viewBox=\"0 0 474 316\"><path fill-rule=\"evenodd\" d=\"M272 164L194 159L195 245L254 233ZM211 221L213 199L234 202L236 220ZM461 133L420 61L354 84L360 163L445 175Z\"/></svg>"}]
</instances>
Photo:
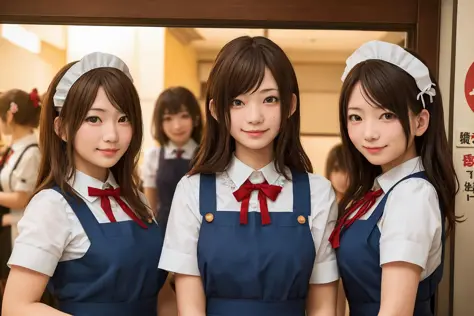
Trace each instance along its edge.
<instances>
[{"instance_id":1,"label":"red ribbon tie on the right woman with white headband","mask_svg":"<svg viewBox=\"0 0 474 316\"><path fill-rule=\"evenodd\" d=\"M382 193L382 189L378 189L376 191L371 190L367 192L362 199L351 205L346 214L339 219L336 227L331 233L331 236L329 236L329 242L334 249L337 249L340 246L342 230L347 229L356 220L364 216L372 208L372 206L374 206L375 201L379 196L382 195ZM354 217L349 219L349 216L355 211L357 211L357 213L354 215Z\"/></svg>"}]
</instances>

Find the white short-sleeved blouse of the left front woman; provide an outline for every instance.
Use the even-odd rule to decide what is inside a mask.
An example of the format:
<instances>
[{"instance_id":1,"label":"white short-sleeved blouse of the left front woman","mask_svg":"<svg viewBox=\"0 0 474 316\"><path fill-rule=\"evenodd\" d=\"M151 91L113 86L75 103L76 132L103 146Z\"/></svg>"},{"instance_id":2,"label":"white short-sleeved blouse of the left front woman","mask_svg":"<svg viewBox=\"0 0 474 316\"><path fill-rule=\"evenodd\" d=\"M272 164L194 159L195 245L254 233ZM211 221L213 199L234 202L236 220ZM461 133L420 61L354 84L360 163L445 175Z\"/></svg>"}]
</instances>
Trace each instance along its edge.
<instances>
[{"instance_id":1,"label":"white short-sleeved blouse of the left front woman","mask_svg":"<svg viewBox=\"0 0 474 316\"><path fill-rule=\"evenodd\" d=\"M110 222L100 206L100 198L89 196L88 187L105 189L110 185L116 188L118 185L111 172L104 183L76 171L69 184L99 223ZM146 203L145 196L140 197ZM110 204L117 222L131 220L115 199L111 198ZM91 245L76 214L54 189L42 190L31 199L18 223L18 230L19 236L8 265L21 266L48 276L54 274L58 262L82 258Z\"/></svg>"}]
</instances>

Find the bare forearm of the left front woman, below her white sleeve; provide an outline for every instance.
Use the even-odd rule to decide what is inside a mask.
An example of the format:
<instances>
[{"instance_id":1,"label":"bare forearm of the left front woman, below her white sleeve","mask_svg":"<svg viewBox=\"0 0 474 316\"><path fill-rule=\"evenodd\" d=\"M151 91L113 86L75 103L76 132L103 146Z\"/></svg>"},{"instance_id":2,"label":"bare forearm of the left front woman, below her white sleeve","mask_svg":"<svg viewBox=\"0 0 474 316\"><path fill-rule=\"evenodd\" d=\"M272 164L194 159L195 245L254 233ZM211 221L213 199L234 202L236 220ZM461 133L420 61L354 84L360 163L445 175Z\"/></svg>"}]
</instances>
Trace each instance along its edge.
<instances>
[{"instance_id":1,"label":"bare forearm of the left front woman, below her white sleeve","mask_svg":"<svg viewBox=\"0 0 474 316\"><path fill-rule=\"evenodd\" d=\"M2 315L61 316L68 315L40 303L49 276L18 266L12 266L3 296ZM25 286L28 284L28 286Z\"/></svg>"}]
</instances>

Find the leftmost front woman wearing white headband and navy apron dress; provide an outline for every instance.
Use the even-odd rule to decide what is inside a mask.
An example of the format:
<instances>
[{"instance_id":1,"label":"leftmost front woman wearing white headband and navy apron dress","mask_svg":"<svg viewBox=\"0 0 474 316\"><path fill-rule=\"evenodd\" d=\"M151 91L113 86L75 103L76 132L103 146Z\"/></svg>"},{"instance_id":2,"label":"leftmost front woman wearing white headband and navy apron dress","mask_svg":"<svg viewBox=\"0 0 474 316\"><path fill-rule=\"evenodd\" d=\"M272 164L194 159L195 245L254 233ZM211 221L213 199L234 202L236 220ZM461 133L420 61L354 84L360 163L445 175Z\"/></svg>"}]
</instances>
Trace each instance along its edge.
<instances>
[{"instance_id":1,"label":"leftmost front woman wearing white headband and navy apron dress","mask_svg":"<svg viewBox=\"0 0 474 316\"><path fill-rule=\"evenodd\" d=\"M103 53L65 66L40 127L3 315L157 315L163 237L136 184L142 116L128 67ZM58 310L39 303L48 282Z\"/></svg>"}]
</instances>

